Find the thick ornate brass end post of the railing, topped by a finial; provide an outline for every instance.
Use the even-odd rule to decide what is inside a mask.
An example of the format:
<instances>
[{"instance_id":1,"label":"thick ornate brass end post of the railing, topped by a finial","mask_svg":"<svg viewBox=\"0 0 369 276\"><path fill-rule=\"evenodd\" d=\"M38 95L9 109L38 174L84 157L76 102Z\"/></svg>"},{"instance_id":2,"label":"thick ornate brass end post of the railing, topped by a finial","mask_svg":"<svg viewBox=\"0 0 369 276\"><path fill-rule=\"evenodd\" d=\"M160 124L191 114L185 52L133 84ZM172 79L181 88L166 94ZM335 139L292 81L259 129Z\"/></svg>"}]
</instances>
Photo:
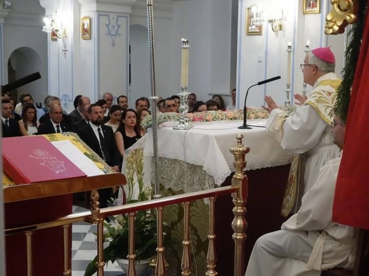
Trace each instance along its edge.
<instances>
[{"instance_id":1,"label":"thick ornate brass end post of the railing, topped by a finial","mask_svg":"<svg viewBox=\"0 0 369 276\"><path fill-rule=\"evenodd\" d=\"M234 155L233 166L236 168L236 173L232 178L232 187L238 188L237 193L233 193L233 208L234 219L232 221L232 228L234 234L232 238L235 242L235 254L234 254L234 276L244 275L244 241L246 240L245 229L247 228L247 222L244 218L246 214L246 203L248 195L248 180L244 174L243 169L246 167L245 154L250 151L249 147L242 144L242 134L237 134L237 145L230 149L230 152Z\"/></svg>"}]
</instances>

